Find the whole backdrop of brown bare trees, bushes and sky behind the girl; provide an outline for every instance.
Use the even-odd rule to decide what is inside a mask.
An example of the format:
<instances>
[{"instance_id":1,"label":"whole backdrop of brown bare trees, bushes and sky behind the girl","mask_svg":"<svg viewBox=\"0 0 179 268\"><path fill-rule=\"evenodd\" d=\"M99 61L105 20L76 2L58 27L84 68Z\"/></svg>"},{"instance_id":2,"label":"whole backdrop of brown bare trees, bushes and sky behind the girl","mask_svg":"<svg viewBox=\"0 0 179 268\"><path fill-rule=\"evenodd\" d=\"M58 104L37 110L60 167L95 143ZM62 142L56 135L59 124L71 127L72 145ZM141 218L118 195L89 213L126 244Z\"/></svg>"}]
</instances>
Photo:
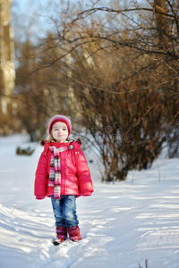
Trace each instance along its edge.
<instances>
[{"instance_id":1,"label":"whole backdrop of brown bare trees, bushes and sky behind the girl","mask_svg":"<svg viewBox=\"0 0 179 268\"><path fill-rule=\"evenodd\" d=\"M179 2L12 6L15 85L1 132L46 137L55 113L98 152L103 181L179 154ZM22 23L22 21L25 23ZM1 88L2 96L3 88Z\"/></svg>"}]
</instances>

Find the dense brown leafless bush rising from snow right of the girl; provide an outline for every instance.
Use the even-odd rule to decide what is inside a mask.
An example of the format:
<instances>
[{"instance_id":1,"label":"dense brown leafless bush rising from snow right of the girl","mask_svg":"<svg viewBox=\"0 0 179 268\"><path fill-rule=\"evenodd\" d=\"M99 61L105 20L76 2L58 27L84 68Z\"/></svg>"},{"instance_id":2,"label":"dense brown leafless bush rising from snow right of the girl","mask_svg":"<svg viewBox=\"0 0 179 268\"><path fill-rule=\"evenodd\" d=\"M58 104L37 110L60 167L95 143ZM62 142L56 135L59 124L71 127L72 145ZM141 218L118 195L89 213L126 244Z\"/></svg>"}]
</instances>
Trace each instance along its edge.
<instances>
[{"instance_id":1,"label":"dense brown leafless bush rising from snow right of the girl","mask_svg":"<svg viewBox=\"0 0 179 268\"><path fill-rule=\"evenodd\" d=\"M144 72L145 78L136 73L141 56L128 48L111 54L102 65L96 64L98 56L89 63L82 56L82 51L73 56L80 63L72 72L79 121L98 146L105 167L103 180L124 180L130 169L148 168L170 139L174 100L160 94L158 80L150 72ZM117 83L121 76L131 79Z\"/></svg>"}]
</instances>

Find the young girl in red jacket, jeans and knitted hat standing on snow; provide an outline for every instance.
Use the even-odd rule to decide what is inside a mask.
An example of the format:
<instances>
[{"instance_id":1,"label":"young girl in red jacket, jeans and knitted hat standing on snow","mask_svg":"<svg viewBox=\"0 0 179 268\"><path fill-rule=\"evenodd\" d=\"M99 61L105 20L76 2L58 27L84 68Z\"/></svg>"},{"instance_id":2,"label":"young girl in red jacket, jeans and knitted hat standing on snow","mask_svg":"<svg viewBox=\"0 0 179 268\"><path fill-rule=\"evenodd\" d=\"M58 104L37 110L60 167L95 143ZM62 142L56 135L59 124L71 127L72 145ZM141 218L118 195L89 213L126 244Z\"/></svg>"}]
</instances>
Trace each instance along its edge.
<instances>
[{"instance_id":1,"label":"young girl in red jacket, jeans and knitted hat standing on snow","mask_svg":"<svg viewBox=\"0 0 179 268\"><path fill-rule=\"evenodd\" d=\"M81 142L69 137L72 124L69 118L57 114L48 123L50 138L43 141L35 179L37 199L51 197L55 215L56 239L59 245L67 239L81 240L76 214L76 197L93 192L90 170L81 151Z\"/></svg>"}]
</instances>

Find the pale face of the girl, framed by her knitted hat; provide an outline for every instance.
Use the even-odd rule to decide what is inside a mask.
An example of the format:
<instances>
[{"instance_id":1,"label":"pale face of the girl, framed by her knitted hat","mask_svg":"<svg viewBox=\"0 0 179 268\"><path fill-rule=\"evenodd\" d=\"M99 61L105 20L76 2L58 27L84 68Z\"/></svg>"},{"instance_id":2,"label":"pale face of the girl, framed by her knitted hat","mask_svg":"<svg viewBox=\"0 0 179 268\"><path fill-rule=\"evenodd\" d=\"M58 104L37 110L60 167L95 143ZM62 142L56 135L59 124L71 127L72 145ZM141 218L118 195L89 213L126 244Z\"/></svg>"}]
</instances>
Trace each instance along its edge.
<instances>
[{"instance_id":1,"label":"pale face of the girl, framed by her knitted hat","mask_svg":"<svg viewBox=\"0 0 179 268\"><path fill-rule=\"evenodd\" d=\"M68 128L62 121L57 121L52 127L52 135L57 142L64 142L68 138Z\"/></svg>"}]
</instances>

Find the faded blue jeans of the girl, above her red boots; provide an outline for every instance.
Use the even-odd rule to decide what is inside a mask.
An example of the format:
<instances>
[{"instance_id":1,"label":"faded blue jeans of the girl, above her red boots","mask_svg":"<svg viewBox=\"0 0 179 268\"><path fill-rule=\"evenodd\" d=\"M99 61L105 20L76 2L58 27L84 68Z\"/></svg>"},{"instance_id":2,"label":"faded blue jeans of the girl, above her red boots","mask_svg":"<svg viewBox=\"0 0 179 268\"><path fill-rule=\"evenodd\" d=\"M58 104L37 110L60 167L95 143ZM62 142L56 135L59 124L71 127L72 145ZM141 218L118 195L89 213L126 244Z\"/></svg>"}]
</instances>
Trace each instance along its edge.
<instances>
[{"instance_id":1,"label":"faded blue jeans of the girl, above her red boots","mask_svg":"<svg viewBox=\"0 0 179 268\"><path fill-rule=\"evenodd\" d=\"M55 199L51 196L55 215L55 226L74 227L79 224L76 214L76 196L61 196Z\"/></svg>"}]
</instances>

